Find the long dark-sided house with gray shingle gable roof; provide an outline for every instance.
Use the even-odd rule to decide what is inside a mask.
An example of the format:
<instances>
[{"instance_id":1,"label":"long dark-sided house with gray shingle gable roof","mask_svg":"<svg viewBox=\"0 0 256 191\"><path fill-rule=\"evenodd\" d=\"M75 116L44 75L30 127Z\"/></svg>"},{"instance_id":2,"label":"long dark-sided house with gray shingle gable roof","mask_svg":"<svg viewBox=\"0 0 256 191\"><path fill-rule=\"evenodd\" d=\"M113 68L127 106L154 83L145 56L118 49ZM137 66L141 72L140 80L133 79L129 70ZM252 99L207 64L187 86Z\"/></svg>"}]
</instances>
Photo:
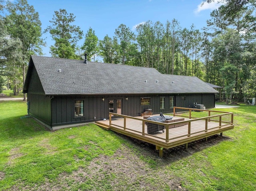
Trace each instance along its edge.
<instances>
[{"instance_id":1,"label":"long dark-sided house with gray shingle gable roof","mask_svg":"<svg viewBox=\"0 0 256 191\"><path fill-rule=\"evenodd\" d=\"M139 116L146 109L215 106L215 89L197 77L164 75L154 68L32 55L24 93L28 114L50 129L108 118Z\"/></svg>"}]
</instances>

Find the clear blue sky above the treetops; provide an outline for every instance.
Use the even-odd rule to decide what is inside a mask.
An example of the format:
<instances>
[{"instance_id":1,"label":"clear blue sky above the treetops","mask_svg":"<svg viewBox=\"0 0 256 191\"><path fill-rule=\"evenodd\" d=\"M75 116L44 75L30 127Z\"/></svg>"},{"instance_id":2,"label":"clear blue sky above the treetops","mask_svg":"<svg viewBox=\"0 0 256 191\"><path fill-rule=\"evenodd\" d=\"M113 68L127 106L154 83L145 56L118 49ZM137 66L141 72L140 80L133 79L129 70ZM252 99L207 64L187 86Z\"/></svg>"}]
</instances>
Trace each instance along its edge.
<instances>
[{"instance_id":1,"label":"clear blue sky above the treetops","mask_svg":"<svg viewBox=\"0 0 256 191\"><path fill-rule=\"evenodd\" d=\"M80 26L84 35L91 27L101 40L105 35L113 37L120 24L134 30L136 25L148 20L166 24L167 20L175 18L182 28L194 24L196 29L201 29L210 19L210 12L220 6L217 3L200 6L201 3L202 0L28 0L39 13L42 30L50 26L55 10L66 9L76 16L74 25ZM54 42L49 33L43 37L47 37L43 53L51 56L49 47ZM84 38L78 45L83 42Z\"/></svg>"}]
</instances>

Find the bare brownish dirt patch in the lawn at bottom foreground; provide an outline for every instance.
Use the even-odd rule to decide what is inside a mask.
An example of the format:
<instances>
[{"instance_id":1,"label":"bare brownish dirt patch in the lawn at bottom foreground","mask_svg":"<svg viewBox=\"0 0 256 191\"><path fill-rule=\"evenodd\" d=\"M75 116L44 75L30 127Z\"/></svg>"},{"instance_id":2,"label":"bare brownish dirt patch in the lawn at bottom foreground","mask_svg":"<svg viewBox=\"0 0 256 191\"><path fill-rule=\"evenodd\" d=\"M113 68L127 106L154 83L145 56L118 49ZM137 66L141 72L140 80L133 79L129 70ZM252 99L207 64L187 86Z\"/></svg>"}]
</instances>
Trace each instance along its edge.
<instances>
[{"instance_id":1,"label":"bare brownish dirt patch in the lawn at bottom foreground","mask_svg":"<svg viewBox=\"0 0 256 191\"><path fill-rule=\"evenodd\" d=\"M157 159L162 160L162 159ZM113 156L99 156L86 167L80 167L71 174L62 173L57 181L46 180L46 183L32 190L60 191L83 190L113 191L152 191L169 190L185 191L180 187L181 179L150 165L134 154L132 148L123 145Z\"/></svg>"}]
</instances>

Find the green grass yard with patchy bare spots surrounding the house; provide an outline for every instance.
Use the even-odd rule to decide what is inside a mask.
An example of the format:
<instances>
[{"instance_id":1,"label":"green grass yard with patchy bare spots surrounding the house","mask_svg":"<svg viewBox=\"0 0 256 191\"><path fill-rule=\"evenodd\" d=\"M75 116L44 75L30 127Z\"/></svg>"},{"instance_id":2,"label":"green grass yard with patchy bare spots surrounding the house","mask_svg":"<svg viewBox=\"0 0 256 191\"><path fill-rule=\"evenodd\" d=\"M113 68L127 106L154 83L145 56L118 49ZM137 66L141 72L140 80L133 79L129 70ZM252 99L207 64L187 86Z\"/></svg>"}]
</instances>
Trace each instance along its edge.
<instances>
[{"instance_id":1,"label":"green grass yard with patchy bare spots surrounding the house","mask_svg":"<svg viewBox=\"0 0 256 191\"><path fill-rule=\"evenodd\" d=\"M49 131L26 102L0 102L0 190L254 191L256 106L234 112L234 130L164 150L94 124Z\"/></svg>"}]
</instances>

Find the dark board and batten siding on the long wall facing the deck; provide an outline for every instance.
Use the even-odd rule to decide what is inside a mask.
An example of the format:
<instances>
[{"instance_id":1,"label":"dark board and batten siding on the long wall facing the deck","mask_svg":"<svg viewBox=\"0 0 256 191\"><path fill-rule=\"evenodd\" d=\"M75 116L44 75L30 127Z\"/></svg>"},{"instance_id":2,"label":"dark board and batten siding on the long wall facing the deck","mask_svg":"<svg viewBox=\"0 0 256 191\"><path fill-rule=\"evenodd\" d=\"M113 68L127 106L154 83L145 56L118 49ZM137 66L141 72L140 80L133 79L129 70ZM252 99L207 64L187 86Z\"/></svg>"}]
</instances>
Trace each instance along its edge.
<instances>
[{"instance_id":1,"label":"dark board and batten siding on the long wall facing the deck","mask_svg":"<svg viewBox=\"0 0 256 191\"><path fill-rule=\"evenodd\" d=\"M214 94L184 94L184 95L98 95L98 96L54 96L51 100L52 126L92 122L108 118L108 100L122 100L122 114L128 116L139 116L146 109L152 109L156 113L170 113L169 98L174 97L174 106L189 107L204 104L206 108L214 107ZM181 101L182 96L185 100ZM165 98L164 109L160 109L160 97ZM102 100L104 98L104 101ZM141 106L141 98L150 98L150 105ZM74 115L75 100L84 101L84 116Z\"/></svg>"}]
</instances>

